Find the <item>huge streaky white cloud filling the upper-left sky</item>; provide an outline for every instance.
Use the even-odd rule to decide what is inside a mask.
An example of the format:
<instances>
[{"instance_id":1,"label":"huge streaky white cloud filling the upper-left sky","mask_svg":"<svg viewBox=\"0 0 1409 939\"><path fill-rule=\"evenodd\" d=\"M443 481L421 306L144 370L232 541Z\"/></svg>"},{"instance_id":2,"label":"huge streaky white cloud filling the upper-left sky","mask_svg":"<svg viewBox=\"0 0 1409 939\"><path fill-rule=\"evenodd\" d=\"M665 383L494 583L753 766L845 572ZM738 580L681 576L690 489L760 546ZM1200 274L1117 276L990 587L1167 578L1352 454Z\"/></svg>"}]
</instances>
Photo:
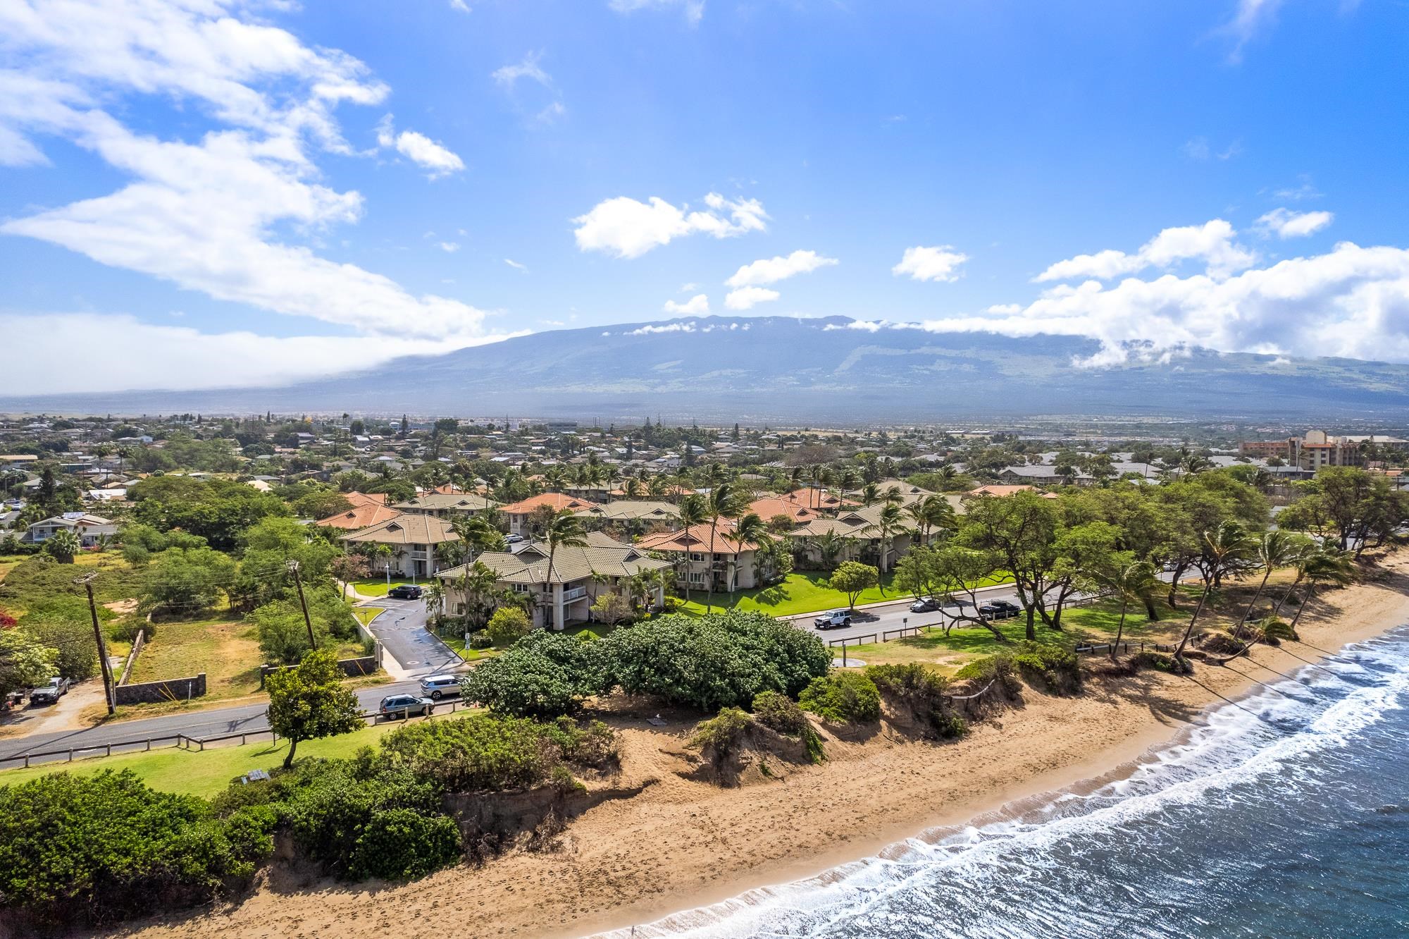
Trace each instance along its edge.
<instances>
[{"instance_id":1,"label":"huge streaky white cloud filling the upper-left sky","mask_svg":"<svg viewBox=\"0 0 1409 939\"><path fill-rule=\"evenodd\" d=\"M317 182L313 155L351 154L333 110L341 102L375 104L387 89L356 59L241 21L244 11L223 0L0 6L0 35L30 69L0 72L10 155L24 156L15 135L31 147L34 135L61 137L132 180L111 195L11 219L0 231L221 300L364 333L479 334L482 310L413 296L297 243L361 216L362 196ZM218 127L197 142L134 131L104 110L128 96L176 100ZM139 361L149 368L162 360Z\"/></svg>"}]
</instances>

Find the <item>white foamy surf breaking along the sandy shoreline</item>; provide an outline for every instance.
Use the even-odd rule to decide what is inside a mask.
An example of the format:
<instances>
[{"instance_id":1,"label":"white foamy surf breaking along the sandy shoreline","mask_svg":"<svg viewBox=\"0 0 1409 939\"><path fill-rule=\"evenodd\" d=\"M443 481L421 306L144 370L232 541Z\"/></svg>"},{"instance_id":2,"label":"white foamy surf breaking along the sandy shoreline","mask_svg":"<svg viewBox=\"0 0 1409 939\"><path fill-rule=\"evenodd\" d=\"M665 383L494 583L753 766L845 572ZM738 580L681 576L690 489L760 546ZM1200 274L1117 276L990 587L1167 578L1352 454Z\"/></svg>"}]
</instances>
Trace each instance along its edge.
<instances>
[{"instance_id":1,"label":"white foamy surf breaking along the sandy shoreline","mask_svg":"<svg viewBox=\"0 0 1409 939\"><path fill-rule=\"evenodd\" d=\"M1178 852L1165 860L1177 829L1196 825L1200 811L1255 812L1272 792L1308 798L1406 699L1409 627L1210 711L1179 742L1089 791L933 829L809 880L600 939L1186 935L1162 919L1177 918L1208 873L1182 870ZM1138 887L1113 876L1122 870L1138 871ZM1076 902L1071 890L1082 891Z\"/></svg>"}]
</instances>

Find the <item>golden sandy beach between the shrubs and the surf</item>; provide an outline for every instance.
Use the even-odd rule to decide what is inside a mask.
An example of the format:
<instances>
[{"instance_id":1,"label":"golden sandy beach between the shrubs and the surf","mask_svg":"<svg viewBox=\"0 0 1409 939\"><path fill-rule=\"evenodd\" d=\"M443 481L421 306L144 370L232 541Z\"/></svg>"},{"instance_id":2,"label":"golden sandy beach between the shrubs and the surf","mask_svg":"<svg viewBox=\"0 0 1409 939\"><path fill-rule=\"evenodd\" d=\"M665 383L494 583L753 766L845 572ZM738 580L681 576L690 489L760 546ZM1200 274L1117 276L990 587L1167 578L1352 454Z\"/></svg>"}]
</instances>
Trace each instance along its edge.
<instances>
[{"instance_id":1,"label":"golden sandy beach between the shrubs and the surf","mask_svg":"<svg viewBox=\"0 0 1409 939\"><path fill-rule=\"evenodd\" d=\"M558 850L514 852L397 887L262 887L227 908L124 931L170 936L582 936L659 919L754 887L797 880L875 854L940 825L964 822L1137 760L1255 682L1409 623L1409 556L1384 558L1375 582L1326 594L1302 618L1302 643L1258 646L1192 678L1140 673L1088 682L1079 698L1026 692L1026 706L978 725L958 743L882 730L827 742L819 767L717 788L683 778L675 756L688 723L621 735L620 787L571 822Z\"/></svg>"}]
</instances>

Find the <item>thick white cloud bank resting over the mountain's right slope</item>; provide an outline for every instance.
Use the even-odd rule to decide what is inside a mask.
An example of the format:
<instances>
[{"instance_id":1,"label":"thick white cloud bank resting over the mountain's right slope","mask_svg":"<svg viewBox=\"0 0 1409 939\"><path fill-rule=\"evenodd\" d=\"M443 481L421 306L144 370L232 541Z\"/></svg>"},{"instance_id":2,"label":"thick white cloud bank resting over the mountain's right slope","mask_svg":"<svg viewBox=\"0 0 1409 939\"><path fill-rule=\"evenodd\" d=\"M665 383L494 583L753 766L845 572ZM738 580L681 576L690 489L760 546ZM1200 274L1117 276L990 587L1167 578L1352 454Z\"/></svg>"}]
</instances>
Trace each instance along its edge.
<instances>
[{"instance_id":1,"label":"thick white cloud bank resting over the mountain's right slope","mask_svg":"<svg viewBox=\"0 0 1409 939\"><path fill-rule=\"evenodd\" d=\"M1189 347L1229 352L1409 361L1409 250L1341 243L1233 276L1165 274L1058 285L1034 302L923 323L945 331L1084 336L1084 364L1160 361Z\"/></svg>"}]
</instances>

